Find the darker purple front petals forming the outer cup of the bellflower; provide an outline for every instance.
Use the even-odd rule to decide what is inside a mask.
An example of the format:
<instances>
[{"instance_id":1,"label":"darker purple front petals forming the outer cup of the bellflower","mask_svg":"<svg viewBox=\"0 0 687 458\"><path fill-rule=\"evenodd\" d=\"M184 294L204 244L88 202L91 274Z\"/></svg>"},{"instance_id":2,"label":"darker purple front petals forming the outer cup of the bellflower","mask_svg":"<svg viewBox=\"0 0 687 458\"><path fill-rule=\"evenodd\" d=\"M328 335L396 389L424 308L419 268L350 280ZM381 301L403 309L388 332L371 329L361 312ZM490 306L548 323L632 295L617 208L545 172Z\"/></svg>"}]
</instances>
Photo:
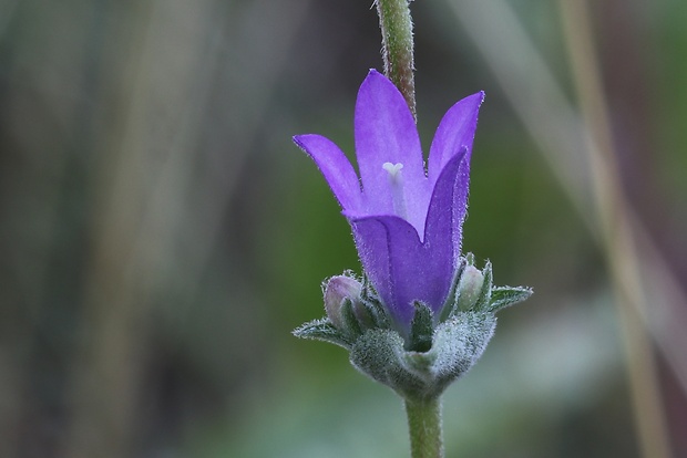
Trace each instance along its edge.
<instances>
[{"instance_id":1,"label":"darker purple front petals forming the outer cup of the bellflower","mask_svg":"<svg viewBox=\"0 0 687 458\"><path fill-rule=\"evenodd\" d=\"M406 332L414 314L413 301L422 301L438 313L451 289L460 256L469 166L462 148L439 176L424 242L398 217L350 219L365 272L398 327Z\"/></svg>"}]
</instances>

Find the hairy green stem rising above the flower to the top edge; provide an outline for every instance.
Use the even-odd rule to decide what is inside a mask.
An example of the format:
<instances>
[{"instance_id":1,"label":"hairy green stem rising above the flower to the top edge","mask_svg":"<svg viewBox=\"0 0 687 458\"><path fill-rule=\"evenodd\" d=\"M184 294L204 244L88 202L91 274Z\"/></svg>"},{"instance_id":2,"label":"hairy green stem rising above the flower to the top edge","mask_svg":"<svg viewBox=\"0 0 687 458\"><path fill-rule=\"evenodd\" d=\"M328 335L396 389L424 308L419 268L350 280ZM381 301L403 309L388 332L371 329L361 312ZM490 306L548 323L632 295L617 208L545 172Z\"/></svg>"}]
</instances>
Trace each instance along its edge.
<instances>
[{"instance_id":1,"label":"hairy green stem rising above the flower to the top edge","mask_svg":"<svg viewBox=\"0 0 687 458\"><path fill-rule=\"evenodd\" d=\"M377 0L384 74L399 89L416 117L412 19L408 0Z\"/></svg>"}]
</instances>

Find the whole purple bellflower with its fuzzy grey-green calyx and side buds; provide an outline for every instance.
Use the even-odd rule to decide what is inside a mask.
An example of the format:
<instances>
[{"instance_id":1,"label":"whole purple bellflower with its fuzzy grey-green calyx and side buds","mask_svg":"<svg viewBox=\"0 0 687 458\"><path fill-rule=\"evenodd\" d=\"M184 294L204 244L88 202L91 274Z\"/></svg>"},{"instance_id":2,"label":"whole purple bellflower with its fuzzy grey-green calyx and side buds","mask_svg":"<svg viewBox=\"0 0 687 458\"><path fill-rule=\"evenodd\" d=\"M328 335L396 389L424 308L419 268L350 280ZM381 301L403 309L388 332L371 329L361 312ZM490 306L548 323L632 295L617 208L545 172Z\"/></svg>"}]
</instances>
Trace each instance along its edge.
<instances>
[{"instance_id":1,"label":"whole purple bellflower with its fuzzy grey-green calyx and side buds","mask_svg":"<svg viewBox=\"0 0 687 458\"><path fill-rule=\"evenodd\" d=\"M532 293L494 287L489 261L479 270L472 254L461 256L470 156L483 100L480 92L449 108L427 169L406 100L375 70L356 103L359 176L329 139L294 137L344 208L363 268L362 279L350 272L329 279L327 318L294 334L347 348L356 368L407 400L437 399L479 360L493 335L495 313Z\"/></svg>"}]
</instances>

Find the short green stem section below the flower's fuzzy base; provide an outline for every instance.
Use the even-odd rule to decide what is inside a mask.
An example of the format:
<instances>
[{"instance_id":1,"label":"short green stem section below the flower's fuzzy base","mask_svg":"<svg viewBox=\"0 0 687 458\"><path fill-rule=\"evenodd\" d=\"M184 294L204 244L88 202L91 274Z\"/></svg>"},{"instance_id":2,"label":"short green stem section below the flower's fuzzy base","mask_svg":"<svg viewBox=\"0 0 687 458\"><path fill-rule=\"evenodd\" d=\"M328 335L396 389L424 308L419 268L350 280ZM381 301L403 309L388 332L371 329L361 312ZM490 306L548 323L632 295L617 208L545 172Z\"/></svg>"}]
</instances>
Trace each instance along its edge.
<instances>
[{"instance_id":1,"label":"short green stem section below the flower's fuzzy base","mask_svg":"<svg viewBox=\"0 0 687 458\"><path fill-rule=\"evenodd\" d=\"M442 458L441 400L406 399L410 455L412 458Z\"/></svg>"}]
</instances>

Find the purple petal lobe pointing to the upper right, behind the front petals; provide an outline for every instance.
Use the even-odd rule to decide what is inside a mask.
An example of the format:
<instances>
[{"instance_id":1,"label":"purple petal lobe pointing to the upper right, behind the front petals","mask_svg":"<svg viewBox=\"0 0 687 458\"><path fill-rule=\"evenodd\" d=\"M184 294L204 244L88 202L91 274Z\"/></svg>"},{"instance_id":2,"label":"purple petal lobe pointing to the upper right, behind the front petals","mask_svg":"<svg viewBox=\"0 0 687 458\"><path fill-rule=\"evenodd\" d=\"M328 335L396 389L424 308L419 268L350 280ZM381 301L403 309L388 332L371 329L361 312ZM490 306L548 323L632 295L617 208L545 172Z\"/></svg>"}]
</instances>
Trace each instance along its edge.
<instances>
[{"instance_id":1,"label":"purple petal lobe pointing to the upper right, behind the front petals","mask_svg":"<svg viewBox=\"0 0 687 458\"><path fill-rule=\"evenodd\" d=\"M454 104L443 116L429 155L429 179L434 183L443 167L461 147L472 152L474 132L478 127L478 113L484 101L484 93L478 92Z\"/></svg>"}]
</instances>

